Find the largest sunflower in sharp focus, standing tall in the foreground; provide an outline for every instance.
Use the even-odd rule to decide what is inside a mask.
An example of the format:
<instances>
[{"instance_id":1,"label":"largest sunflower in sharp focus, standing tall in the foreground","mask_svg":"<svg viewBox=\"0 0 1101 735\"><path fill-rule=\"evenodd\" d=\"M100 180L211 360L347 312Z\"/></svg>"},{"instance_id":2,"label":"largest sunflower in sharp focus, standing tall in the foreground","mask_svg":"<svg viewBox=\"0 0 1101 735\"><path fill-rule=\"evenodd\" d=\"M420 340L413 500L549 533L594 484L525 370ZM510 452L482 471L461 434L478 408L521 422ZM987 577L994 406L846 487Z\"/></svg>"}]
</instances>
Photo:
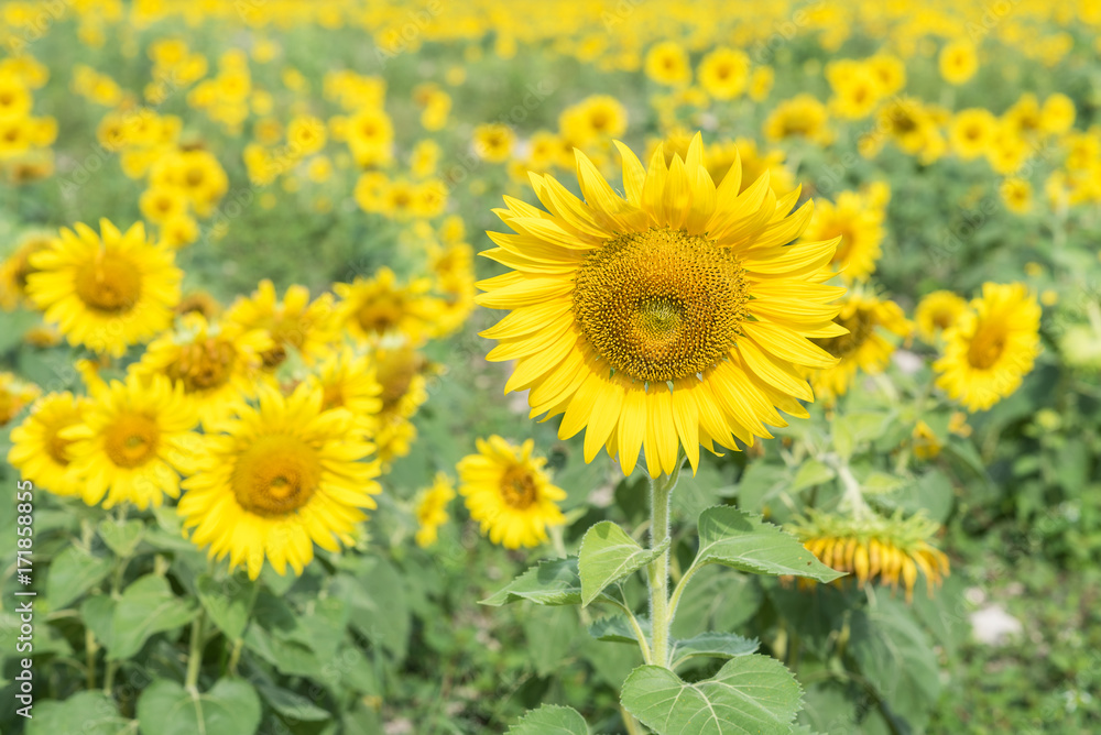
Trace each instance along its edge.
<instances>
[{"instance_id":1,"label":"largest sunflower in sharp focus, standing tall in the foreground","mask_svg":"<svg viewBox=\"0 0 1101 735\"><path fill-rule=\"evenodd\" d=\"M549 213L505 197L497 210L516 234L490 232L483 253L514 271L482 281L478 303L512 314L483 337L490 360L516 360L505 391L531 390L532 416L565 414L559 437L588 427L585 458L607 447L630 473L645 450L650 473L672 472L683 446L737 449L786 426L776 408L807 416L800 369L837 360L811 342L844 333L820 285L837 240L788 245L810 217L788 216L768 177L737 195L741 166L716 187L697 134L687 158L646 172L622 144L626 199L577 153L585 201L532 174Z\"/></svg>"}]
</instances>

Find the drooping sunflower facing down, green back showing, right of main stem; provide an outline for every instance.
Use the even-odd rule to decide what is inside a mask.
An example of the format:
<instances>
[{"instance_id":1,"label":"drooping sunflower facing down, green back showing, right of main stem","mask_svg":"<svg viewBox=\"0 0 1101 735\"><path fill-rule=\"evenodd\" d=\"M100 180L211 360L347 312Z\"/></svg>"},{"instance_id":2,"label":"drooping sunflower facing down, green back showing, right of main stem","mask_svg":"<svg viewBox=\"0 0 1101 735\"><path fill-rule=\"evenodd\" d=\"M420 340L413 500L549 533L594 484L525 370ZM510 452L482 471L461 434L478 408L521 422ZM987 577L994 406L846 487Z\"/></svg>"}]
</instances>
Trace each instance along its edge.
<instances>
[{"instance_id":1,"label":"drooping sunflower facing down, green back showing, right of main stem","mask_svg":"<svg viewBox=\"0 0 1101 735\"><path fill-rule=\"evenodd\" d=\"M901 580L907 602L913 600L918 571L925 575L930 595L948 577L948 557L929 542L939 529L939 524L924 516L903 518L901 512L890 518L873 513L859 519L810 512L791 525L807 550L827 567L855 574L861 588L879 579L897 589ZM846 581L842 577L835 584Z\"/></svg>"}]
</instances>

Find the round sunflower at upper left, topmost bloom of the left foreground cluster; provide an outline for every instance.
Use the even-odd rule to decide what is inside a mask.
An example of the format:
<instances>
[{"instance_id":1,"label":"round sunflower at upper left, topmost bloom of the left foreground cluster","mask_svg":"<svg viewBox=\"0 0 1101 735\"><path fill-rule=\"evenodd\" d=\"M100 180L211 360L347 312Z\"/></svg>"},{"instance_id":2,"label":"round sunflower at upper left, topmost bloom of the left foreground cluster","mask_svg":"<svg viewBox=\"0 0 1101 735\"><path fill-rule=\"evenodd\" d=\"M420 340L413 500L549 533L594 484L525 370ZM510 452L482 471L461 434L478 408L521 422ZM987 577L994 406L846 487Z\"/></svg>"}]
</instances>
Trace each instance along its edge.
<instances>
[{"instance_id":1,"label":"round sunflower at upper left, topmost bloom of the left foreground cluster","mask_svg":"<svg viewBox=\"0 0 1101 735\"><path fill-rule=\"evenodd\" d=\"M126 234L106 219L102 237L80 222L74 230L62 228L48 250L30 256L28 295L69 344L121 358L172 323L183 273L141 222Z\"/></svg>"}]
</instances>

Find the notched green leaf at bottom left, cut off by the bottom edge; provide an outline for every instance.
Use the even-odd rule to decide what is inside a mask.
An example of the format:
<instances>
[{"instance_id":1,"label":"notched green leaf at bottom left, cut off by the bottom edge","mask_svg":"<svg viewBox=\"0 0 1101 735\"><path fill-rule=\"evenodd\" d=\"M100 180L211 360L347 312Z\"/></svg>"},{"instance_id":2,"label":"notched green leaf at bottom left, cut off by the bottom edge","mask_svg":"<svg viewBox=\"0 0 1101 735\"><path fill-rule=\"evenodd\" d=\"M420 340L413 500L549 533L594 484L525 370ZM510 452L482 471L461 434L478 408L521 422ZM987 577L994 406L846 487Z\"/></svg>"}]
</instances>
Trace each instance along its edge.
<instances>
[{"instance_id":1,"label":"notched green leaf at bottom left, cut off by the bottom edge","mask_svg":"<svg viewBox=\"0 0 1101 735\"><path fill-rule=\"evenodd\" d=\"M190 694L160 679L138 700L142 735L242 735L260 726L260 698L242 679L221 679L210 691Z\"/></svg>"}]
</instances>

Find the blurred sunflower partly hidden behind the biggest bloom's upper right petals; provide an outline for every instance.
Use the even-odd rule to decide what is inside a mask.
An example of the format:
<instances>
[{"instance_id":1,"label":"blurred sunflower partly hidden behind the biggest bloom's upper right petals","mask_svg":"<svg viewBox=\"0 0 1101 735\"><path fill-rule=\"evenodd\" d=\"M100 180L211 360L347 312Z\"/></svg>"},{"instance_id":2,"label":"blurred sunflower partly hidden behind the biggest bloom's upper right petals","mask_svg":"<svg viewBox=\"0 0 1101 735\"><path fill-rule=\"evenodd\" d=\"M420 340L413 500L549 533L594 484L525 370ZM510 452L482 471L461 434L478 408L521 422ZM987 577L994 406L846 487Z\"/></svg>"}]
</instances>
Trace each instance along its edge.
<instances>
[{"instance_id":1,"label":"blurred sunflower partly hidden behind the biggest bloom's upper right petals","mask_svg":"<svg viewBox=\"0 0 1101 735\"><path fill-rule=\"evenodd\" d=\"M819 199L803 238L821 241L841 238L831 264L848 281L868 281L882 253L883 212L855 191L841 191L837 202Z\"/></svg>"}]
</instances>

